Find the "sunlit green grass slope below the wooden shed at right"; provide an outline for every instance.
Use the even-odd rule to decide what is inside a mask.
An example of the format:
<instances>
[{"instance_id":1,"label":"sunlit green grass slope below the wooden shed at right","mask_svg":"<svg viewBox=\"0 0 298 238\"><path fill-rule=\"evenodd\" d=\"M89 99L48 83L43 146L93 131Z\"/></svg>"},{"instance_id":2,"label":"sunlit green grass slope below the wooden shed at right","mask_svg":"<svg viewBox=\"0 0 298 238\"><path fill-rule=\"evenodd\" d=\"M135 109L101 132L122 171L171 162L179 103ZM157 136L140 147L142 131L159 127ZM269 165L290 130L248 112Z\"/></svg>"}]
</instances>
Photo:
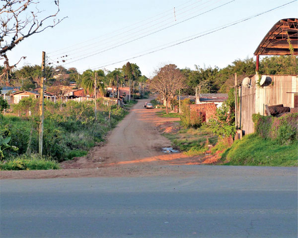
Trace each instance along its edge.
<instances>
[{"instance_id":1,"label":"sunlit green grass slope below the wooden shed at right","mask_svg":"<svg viewBox=\"0 0 298 238\"><path fill-rule=\"evenodd\" d=\"M290 145L279 145L276 141L250 134L235 141L226 149L222 160L224 165L247 166L297 166L297 141Z\"/></svg>"}]
</instances>

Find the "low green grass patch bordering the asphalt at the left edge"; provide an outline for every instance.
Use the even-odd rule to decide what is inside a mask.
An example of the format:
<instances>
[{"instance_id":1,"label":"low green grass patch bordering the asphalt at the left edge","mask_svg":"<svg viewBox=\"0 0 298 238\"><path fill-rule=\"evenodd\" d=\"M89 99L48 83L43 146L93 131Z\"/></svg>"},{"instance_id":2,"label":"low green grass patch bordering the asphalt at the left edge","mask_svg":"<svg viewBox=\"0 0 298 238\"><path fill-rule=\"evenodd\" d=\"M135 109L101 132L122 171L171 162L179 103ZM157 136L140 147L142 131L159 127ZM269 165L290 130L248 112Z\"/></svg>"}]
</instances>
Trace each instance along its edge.
<instances>
[{"instance_id":1,"label":"low green grass patch bordering the asphalt at the left edge","mask_svg":"<svg viewBox=\"0 0 298 238\"><path fill-rule=\"evenodd\" d=\"M0 170L59 170L56 161L40 158L38 155L17 156L11 160L0 162Z\"/></svg>"}]
</instances>

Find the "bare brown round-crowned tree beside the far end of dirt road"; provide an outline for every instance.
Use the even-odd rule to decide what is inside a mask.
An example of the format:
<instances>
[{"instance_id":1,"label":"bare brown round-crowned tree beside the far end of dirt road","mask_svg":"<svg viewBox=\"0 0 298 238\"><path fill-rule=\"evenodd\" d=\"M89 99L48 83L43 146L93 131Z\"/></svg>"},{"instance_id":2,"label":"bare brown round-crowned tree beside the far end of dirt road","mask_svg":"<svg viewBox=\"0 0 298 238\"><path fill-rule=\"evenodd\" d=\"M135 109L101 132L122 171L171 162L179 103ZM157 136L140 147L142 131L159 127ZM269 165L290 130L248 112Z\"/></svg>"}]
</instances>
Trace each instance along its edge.
<instances>
[{"instance_id":1,"label":"bare brown round-crowned tree beside the far end of dirt road","mask_svg":"<svg viewBox=\"0 0 298 238\"><path fill-rule=\"evenodd\" d=\"M165 112L168 114L168 102L175 96L179 88L185 86L186 78L175 64L167 64L156 71L150 87L158 92L166 101Z\"/></svg>"}]
</instances>

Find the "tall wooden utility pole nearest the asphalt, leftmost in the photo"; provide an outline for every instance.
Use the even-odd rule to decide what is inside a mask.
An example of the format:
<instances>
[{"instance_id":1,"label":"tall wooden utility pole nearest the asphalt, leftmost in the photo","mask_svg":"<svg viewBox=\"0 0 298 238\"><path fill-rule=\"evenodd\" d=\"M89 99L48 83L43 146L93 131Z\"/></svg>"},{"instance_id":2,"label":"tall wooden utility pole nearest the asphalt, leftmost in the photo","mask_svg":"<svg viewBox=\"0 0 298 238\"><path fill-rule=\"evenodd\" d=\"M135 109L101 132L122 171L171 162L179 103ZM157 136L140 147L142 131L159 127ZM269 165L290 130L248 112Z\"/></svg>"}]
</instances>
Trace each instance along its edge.
<instances>
[{"instance_id":1,"label":"tall wooden utility pole nearest the asphalt, leftmost in the photo","mask_svg":"<svg viewBox=\"0 0 298 238\"><path fill-rule=\"evenodd\" d=\"M43 143L43 119L44 119L44 80L45 80L45 64L46 64L46 53L42 52L41 62L41 83L39 93L39 141L38 141L38 154L42 156L42 143Z\"/></svg>"}]
</instances>

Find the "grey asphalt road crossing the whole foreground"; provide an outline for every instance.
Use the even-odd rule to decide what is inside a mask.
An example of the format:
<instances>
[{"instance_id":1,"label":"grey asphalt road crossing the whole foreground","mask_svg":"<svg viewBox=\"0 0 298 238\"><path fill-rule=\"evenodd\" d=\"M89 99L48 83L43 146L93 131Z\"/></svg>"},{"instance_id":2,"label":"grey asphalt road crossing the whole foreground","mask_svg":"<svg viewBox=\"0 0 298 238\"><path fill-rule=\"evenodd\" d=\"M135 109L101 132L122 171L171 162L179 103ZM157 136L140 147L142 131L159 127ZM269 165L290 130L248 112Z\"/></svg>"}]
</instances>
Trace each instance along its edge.
<instances>
[{"instance_id":1,"label":"grey asphalt road crossing the whole foreground","mask_svg":"<svg viewBox=\"0 0 298 238\"><path fill-rule=\"evenodd\" d=\"M1 180L1 238L297 238L297 168ZM201 171L201 172L200 172Z\"/></svg>"}]
</instances>

